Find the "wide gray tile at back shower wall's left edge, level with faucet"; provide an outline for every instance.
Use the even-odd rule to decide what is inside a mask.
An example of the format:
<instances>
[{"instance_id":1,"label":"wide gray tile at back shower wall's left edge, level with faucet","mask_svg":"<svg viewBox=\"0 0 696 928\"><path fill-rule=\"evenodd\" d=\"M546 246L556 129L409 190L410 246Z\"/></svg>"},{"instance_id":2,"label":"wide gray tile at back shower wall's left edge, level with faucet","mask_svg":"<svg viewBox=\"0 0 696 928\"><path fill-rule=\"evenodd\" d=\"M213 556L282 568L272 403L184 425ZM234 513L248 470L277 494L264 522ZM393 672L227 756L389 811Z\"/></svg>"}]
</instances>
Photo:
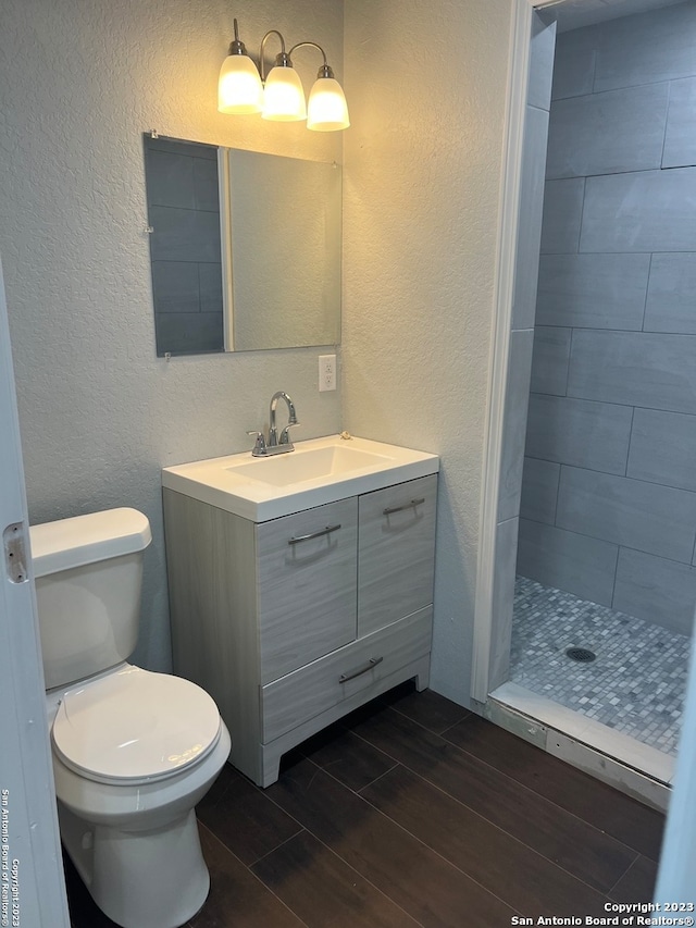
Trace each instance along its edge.
<instances>
[{"instance_id":1,"label":"wide gray tile at back shower wall's left edge, level with faucet","mask_svg":"<svg viewBox=\"0 0 696 928\"><path fill-rule=\"evenodd\" d=\"M632 410L610 403L586 403L532 394L526 454L533 458L625 473Z\"/></svg>"}]
</instances>

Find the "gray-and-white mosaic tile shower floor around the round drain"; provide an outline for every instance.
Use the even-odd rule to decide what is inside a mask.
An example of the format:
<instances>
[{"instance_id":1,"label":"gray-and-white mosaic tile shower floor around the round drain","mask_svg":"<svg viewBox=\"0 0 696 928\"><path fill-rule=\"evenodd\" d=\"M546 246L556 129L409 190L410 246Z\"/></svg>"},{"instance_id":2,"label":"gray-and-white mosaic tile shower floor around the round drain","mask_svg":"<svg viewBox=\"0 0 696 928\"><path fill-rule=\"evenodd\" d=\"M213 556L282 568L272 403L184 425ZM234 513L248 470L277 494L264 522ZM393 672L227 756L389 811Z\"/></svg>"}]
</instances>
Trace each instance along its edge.
<instances>
[{"instance_id":1,"label":"gray-and-white mosaic tile shower floor around the round drain","mask_svg":"<svg viewBox=\"0 0 696 928\"><path fill-rule=\"evenodd\" d=\"M510 679L675 755L688 638L524 577L514 592ZM596 659L572 660L569 647Z\"/></svg>"}]
</instances>

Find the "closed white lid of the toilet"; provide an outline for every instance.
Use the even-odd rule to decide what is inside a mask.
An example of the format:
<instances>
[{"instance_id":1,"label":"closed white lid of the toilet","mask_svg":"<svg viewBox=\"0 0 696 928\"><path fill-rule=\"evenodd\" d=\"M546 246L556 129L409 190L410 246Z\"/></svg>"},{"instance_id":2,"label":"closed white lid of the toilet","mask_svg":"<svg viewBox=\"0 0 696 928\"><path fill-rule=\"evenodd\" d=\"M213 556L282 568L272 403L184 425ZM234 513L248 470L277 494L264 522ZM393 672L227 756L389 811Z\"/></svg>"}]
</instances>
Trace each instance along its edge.
<instances>
[{"instance_id":1,"label":"closed white lid of the toilet","mask_svg":"<svg viewBox=\"0 0 696 928\"><path fill-rule=\"evenodd\" d=\"M220 732L217 706L200 686L129 666L65 693L51 739L87 779L150 782L201 760Z\"/></svg>"}]
</instances>

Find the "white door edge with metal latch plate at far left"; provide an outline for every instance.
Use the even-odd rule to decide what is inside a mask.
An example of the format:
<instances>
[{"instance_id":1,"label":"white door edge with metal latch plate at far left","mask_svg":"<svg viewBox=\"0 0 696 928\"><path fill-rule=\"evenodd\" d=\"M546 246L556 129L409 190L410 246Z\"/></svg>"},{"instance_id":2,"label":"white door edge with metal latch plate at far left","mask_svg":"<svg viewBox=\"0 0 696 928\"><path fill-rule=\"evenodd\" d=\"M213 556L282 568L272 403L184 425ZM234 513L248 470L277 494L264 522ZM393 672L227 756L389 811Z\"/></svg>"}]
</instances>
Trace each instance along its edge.
<instances>
[{"instance_id":1,"label":"white door edge with metal latch plate at far left","mask_svg":"<svg viewBox=\"0 0 696 928\"><path fill-rule=\"evenodd\" d=\"M0 926L69 928L27 527L0 267Z\"/></svg>"}]
</instances>

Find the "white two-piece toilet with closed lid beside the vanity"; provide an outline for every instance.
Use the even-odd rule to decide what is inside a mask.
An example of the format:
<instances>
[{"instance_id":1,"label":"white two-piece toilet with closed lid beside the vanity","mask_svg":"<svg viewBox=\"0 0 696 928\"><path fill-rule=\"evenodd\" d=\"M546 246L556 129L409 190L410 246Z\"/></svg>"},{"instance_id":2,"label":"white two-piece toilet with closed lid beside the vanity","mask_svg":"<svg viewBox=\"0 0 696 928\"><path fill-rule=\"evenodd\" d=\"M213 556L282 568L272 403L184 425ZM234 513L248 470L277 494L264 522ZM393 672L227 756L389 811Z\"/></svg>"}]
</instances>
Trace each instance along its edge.
<instances>
[{"instance_id":1,"label":"white two-piece toilet with closed lid beside the vanity","mask_svg":"<svg viewBox=\"0 0 696 928\"><path fill-rule=\"evenodd\" d=\"M213 700L127 663L147 518L111 509L29 530L61 839L123 928L176 928L210 887L194 806L229 754Z\"/></svg>"}]
</instances>

